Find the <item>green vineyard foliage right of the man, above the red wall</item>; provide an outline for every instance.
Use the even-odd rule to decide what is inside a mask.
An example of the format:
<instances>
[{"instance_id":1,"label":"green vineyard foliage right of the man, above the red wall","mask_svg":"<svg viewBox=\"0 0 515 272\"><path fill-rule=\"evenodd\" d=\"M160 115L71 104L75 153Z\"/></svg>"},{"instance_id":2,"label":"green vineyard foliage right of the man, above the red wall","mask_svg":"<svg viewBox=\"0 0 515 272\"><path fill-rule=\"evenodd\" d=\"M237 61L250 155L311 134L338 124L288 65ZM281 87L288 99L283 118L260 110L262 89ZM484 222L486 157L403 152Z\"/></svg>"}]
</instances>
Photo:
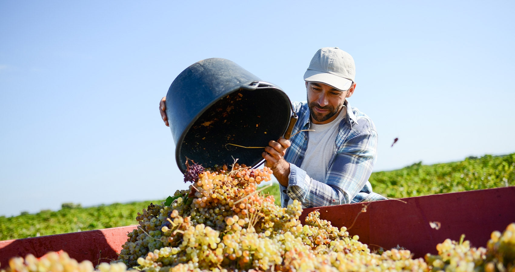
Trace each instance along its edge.
<instances>
[{"instance_id":1,"label":"green vineyard foliage right of the man, above the red wall","mask_svg":"<svg viewBox=\"0 0 515 272\"><path fill-rule=\"evenodd\" d=\"M430 166L418 162L399 170L374 172L369 181L374 192L390 198L514 186L515 153Z\"/></svg>"}]
</instances>

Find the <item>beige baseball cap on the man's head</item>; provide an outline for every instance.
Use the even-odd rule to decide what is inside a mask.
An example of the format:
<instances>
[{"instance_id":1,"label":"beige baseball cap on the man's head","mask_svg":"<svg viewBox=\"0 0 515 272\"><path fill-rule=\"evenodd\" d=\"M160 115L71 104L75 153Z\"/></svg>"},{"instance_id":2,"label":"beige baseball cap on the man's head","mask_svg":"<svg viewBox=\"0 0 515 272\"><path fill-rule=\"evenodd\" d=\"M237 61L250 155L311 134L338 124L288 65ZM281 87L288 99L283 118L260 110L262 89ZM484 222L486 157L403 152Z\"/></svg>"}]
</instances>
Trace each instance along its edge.
<instances>
[{"instance_id":1,"label":"beige baseball cap on the man's head","mask_svg":"<svg viewBox=\"0 0 515 272\"><path fill-rule=\"evenodd\" d=\"M324 47L318 49L311 59L310 67L304 73L304 80L348 90L355 75L354 59L349 53L338 47Z\"/></svg>"}]
</instances>

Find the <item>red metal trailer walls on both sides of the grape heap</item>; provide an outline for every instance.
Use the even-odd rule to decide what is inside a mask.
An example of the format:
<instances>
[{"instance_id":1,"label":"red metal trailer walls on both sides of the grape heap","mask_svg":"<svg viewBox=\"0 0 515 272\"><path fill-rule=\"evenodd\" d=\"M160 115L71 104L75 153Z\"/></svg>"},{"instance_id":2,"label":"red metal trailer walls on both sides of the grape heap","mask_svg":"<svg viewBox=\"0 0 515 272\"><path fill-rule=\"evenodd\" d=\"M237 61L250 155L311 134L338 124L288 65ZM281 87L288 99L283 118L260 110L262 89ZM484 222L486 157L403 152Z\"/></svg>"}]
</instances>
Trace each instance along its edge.
<instances>
[{"instance_id":1,"label":"red metal trailer walls on both sides of the grape heap","mask_svg":"<svg viewBox=\"0 0 515 272\"><path fill-rule=\"evenodd\" d=\"M485 247L492 231L503 231L515 222L515 186L310 208L301 218L314 210L333 226L349 228L372 249L399 245L418 258L437 253L438 243L447 238L458 241L461 234L472 246ZM66 251L79 262L90 260L95 265L116 260L127 233L136 227L0 241L1 267L12 257L28 253L41 257L48 251Z\"/></svg>"}]
</instances>

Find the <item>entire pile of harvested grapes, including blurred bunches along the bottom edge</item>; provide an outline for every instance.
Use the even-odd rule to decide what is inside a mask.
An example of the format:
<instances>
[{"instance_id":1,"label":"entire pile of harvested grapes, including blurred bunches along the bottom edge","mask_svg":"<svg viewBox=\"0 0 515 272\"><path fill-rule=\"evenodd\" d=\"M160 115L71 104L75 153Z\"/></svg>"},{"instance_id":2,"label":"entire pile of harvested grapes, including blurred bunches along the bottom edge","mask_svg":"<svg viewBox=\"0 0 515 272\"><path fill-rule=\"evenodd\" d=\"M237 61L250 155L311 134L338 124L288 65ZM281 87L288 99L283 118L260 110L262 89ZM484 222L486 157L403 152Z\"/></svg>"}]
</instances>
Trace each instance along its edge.
<instances>
[{"instance_id":1,"label":"entire pile of harvested grapes, including blurred bunches along the bottom edge","mask_svg":"<svg viewBox=\"0 0 515 272\"><path fill-rule=\"evenodd\" d=\"M300 220L301 204L281 208L258 190L272 171L234 164L203 169L188 166L173 202L150 204L136 220L117 261L96 268L66 253L40 260L13 258L1 272L149 272L179 271L512 271L515 272L515 223L491 234L487 247L445 240L438 255L413 259L406 249L371 251L333 227L317 211ZM304 221L304 222L302 222Z\"/></svg>"}]
</instances>

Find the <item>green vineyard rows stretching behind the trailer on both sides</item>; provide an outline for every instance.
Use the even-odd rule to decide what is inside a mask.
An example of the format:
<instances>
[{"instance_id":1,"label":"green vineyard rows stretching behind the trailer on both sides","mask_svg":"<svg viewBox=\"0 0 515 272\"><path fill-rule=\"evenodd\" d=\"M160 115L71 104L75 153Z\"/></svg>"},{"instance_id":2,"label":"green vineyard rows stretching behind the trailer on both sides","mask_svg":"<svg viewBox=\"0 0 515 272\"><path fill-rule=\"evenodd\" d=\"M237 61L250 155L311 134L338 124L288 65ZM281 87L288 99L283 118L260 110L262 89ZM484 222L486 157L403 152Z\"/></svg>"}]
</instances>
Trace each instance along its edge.
<instances>
[{"instance_id":1,"label":"green vineyard rows stretching behind the trailer on both sides","mask_svg":"<svg viewBox=\"0 0 515 272\"><path fill-rule=\"evenodd\" d=\"M399 170L374 172L370 183L374 192L389 198L515 186L515 153L431 166L418 163ZM274 184L263 192L274 195L276 204L279 204L279 185ZM134 225L138 223L135 221L136 213L150 202L162 201L86 208L68 203L63 204L59 211L0 216L0 240Z\"/></svg>"}]
</instances>

